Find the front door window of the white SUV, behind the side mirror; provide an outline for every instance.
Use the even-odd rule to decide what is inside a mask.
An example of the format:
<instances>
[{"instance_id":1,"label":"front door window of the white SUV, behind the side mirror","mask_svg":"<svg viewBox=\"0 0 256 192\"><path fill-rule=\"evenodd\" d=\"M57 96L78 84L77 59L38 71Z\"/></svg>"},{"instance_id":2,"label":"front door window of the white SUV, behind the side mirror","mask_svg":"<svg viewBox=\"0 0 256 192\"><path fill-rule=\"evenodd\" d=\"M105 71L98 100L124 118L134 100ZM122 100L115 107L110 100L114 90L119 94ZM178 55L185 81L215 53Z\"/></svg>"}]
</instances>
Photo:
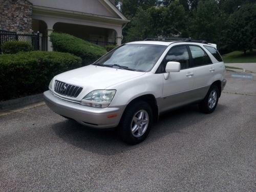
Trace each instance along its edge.
<instances>
[{"instance_id":1,"label":"front door window of the white SUV, behind the side mirror","mask_svg":"<svg viewBox=\"0 0 256 192\"><path fill-rule=\"evenodd\" d=\"M189 56L186 46L178 46L170 49L165 57L165 63L169 61L180 62L180 69L189 67Z\"/></svg>"}]
</instances>

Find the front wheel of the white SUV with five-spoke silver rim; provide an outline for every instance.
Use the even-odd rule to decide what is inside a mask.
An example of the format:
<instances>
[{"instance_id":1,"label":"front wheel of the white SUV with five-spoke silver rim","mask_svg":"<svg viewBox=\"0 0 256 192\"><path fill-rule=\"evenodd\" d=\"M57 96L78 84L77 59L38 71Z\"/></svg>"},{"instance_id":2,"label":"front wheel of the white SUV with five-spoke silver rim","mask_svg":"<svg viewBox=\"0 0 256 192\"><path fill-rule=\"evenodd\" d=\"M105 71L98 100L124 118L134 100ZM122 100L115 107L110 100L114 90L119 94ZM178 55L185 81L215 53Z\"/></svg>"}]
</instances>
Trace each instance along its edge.
<instances>
[{"instance_id":1,"label":"front wheel of the white SUV with five-spoke silver rim","mask_svg":"<svg viewBox=\"0 0 256 192\"><path fill-rule=\"evenodd\" d=\"M151 106L144 101L137 101L127 106L119 124L119 134L129 144L142 142L150 133L153 122Z\"/></svg>"}]
</instances>

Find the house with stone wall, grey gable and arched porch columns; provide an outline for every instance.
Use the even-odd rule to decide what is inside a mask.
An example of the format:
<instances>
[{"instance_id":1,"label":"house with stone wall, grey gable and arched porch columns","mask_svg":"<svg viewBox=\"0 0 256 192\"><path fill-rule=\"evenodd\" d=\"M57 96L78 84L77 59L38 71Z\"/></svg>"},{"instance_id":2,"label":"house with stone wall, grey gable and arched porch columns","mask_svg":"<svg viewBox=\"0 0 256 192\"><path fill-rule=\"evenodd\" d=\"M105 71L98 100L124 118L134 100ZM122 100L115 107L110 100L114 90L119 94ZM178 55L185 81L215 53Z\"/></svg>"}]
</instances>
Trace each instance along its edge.
<instances>
[{"instance_id":1,"label":"house with stone wall, grey gable and arched porch columns","mask_svg":"<svg viewBox=\"0 0 256 192\"><path fill-rule=\"evenodd\" d=\"M128 22L114 0L5 0L0 4L1 30L39 31L46 37L48 51L52 45L47 37L53 31L121 45Z\"/></svg>"}]
</instances>

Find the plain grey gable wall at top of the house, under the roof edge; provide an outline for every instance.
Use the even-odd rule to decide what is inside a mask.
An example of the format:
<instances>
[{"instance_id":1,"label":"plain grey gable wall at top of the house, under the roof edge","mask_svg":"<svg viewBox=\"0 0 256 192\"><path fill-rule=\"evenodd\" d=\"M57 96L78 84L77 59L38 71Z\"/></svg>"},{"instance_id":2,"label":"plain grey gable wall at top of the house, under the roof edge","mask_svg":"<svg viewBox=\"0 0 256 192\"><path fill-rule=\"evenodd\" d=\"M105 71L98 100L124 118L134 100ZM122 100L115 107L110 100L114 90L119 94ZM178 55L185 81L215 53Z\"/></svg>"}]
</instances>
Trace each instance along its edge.
<instances>
[{"instance_id":1,"label":"plain grey gable wall at top of the house, under the roof edge","mask_svg":"<svg viewBox=\"0 0 256 192\"><path fill-rule=\"evenodd\" d=\"M82 13L91 13L120 18L114 11L106 9L100 0L29 0L35 6L70 10Z\"/></svg>"}]
</instances>

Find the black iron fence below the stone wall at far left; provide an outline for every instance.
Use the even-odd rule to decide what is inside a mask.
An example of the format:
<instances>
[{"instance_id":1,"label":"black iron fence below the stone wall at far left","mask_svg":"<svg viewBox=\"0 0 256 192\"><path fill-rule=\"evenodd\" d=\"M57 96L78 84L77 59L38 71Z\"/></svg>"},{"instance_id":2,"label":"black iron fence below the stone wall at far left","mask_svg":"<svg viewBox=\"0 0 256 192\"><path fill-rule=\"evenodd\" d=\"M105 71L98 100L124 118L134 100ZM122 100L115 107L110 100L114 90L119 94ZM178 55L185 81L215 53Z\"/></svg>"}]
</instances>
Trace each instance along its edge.
<instances>
[{"instance_id":1,"label":"black iron fence below the stone wall at far left","mask_svg":"<svg viewBox=\"0 0 256 192\"><path fill-rule=\"evenodd\" d=\"M26 41L30 42L34 50L39 50L40 35L37 34L18 34L12 31L0 30L0 53L2 53L1 46L6 41Z\"/></svg>"}]
</instances>

